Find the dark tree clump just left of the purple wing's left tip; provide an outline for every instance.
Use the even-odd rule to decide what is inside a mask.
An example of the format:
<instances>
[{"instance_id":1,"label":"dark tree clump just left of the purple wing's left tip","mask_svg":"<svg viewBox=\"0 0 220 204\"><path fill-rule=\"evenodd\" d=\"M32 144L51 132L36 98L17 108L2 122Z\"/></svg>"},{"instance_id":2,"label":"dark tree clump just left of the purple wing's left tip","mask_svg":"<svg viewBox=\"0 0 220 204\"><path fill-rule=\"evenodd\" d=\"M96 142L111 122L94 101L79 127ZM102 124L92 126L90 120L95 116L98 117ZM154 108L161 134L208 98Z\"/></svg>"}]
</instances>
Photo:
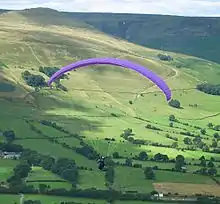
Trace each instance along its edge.
<instances>
[{"instance_id":1,"label":"dark tree clump just left of the purple wing's left tip","mask_svg":"<svg viewBox=\"0 0 220 204\"><path fill-rule=\"evenodd\" d=\"M31 74L29 71L22 72L22 78L25 80L27 85L32 87L45 87L47 85L44 77L41 75Z\"/></svg>"}]
</instances>

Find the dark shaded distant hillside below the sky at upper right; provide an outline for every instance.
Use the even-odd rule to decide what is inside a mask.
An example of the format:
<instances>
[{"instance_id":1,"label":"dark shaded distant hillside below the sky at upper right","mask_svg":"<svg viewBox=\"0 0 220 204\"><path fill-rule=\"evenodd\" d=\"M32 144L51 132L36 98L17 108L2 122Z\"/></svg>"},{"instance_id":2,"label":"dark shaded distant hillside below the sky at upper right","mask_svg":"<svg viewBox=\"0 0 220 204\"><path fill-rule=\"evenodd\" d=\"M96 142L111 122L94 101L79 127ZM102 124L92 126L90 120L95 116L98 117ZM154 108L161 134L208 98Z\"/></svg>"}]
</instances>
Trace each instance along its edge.
<instances>
[{"instance_id":1,"label":"dark shaded distant hillside below the sky at upper right","mask_svg":"<svg viewBox=\"0 0 220 204\"><path fill-rule=\"evenodd\" d=\"M130 42L220 62L220 18L100 13L68 15Z\"/></svg>"}]
</instances>

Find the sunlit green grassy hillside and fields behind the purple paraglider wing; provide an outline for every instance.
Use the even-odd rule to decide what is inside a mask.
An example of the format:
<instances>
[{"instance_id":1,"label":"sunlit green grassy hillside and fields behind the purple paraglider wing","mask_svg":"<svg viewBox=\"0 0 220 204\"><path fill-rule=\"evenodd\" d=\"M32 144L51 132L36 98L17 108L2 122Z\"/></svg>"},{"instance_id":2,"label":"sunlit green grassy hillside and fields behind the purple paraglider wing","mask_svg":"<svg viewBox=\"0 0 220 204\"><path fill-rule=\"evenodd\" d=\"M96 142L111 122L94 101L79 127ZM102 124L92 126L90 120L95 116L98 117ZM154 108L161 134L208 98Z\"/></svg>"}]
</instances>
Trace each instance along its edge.
<instances>
[{"instance_id":1,"label":"sunlit green grassy hillside and fields behind the purple paraglider wing","mask_svg":"<svg viewBox=\"0 0 220 204\"><path fill-rule=\"evenodd\" d=\"M175 193L184 194L187 185L194 184L196 193L207 188L206 193L212 194L213 190L214 195L219 195L219 186L215 181L209 176L195 177L192 172L201 168L194 164L200 162L198 159L202 155L207 160L213 157L220 172L220 156L212 152L213 134L217 131L207 127L208 123L215 126L220 124L220 98L195 89L203 81L218 83L220 65L176 53L168 53L174 60L164 62L157 57L161 51L113 38L80 21L73 21L70 25L69 22L65 23L66 16L55 11L50 13L48 10L47 14L43 11L12 11L0 15L0 132L13 130L16 135L14 144L38 154L75 160L81 168L77 183L79 189L107 189L105 172L97 170L95 160L77 151L86 143L105 156L118 152L123 160L146 151L149 158L162 153L175 159L181 154L187 161L188 172L185 176L171 172L175 166L172 162L162 163L162 166L160 162L154 161L155 165L149 160L142 162L143 167L160 167L155 171L156 180L152 181L144 179L142 168L124 167L120 165L124 161L115 160L119 163L112 184L115 190L149 193L160 189L170 192L170 183L181 183L182 189L175 190ZM40 67L60 68L90 57L128 59L150 68L166 80L173 90L174 99L181 102L182 109L169 106L163 94L149 80L133 71L114 66L91 66L71 72L69 79L61 80L68 91L57 90L55 86L37 91L22 78L22 73L28 70L48 80L48 76L39 72ZM172 114L178 119L173 127L169 121ZM57 126L43 125L41 120L55 122ZM146 125L160 130L146 128ZM133 144L122 138L121 134L127 128L132 128L134 139L145 141L145 144ZM206 129L205 134L200 133L203 128ZM187 150L184 139L188 136L181 132L191 132L194 135L192 139L199 134L210 151L205 152L199 147L194 151ZM114 138L115 141L108 142L105 138ZM3 142L6 141L2 136ZM140 161L133 160L135 163ZM5 166L3 171L13 169L14 165L13 162L4 164L1 160L0 164ZM3 172L2 175L0 172L0 178L4 178L2 181L5 182L8 176L9 172ZM36 188L39 184L50 185L51 188L71 188L69 181L39 166L32 167L26 183L32 183ZM165 190L161 190L163 185ZM54 197L36 196L46 204L49 201L43 200L56 202ZM99 202L102 203L101 200Z\"/></svg>"}]
</instances>

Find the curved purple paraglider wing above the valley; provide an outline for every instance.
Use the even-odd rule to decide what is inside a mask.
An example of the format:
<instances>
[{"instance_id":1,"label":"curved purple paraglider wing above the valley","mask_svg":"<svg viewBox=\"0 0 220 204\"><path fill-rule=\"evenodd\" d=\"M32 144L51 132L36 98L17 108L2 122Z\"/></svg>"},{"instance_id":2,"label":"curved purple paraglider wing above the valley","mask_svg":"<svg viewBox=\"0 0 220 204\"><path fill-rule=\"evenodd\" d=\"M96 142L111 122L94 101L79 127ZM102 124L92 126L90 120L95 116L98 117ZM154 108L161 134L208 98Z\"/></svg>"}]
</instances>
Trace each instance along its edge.
<instances>
[{"instance_id":1,"label":"curved purple paraglider wing above the valley","mask_svg":"<svg viewBox=\"0 0 220 204\"><path fill-rule=\"evenodd\" d=\"M85 59L81 60L72 64L69 64L67 66L62 67L59 71L54 73L51 78L48 81L48 85L50 86L51 83L62 76L64 73L75 70L80 67L85 67L88 65L94 65L94 64L109 64L109 65L115 65L115 66L120 66L128 69L135 70L136 72L142 74L143 76L147 77L150 79L154 84L156 84L166 95L167 101L171 99L171 91L168 87L168 85L165 83L163 79L161 79L159 76L157 76L154 72L151 70L148 70L147 68L133 63L128 60L123 60L123 59L117 59L117 58L90 58L90 59Z\"/></svg>"}]
</instances>

